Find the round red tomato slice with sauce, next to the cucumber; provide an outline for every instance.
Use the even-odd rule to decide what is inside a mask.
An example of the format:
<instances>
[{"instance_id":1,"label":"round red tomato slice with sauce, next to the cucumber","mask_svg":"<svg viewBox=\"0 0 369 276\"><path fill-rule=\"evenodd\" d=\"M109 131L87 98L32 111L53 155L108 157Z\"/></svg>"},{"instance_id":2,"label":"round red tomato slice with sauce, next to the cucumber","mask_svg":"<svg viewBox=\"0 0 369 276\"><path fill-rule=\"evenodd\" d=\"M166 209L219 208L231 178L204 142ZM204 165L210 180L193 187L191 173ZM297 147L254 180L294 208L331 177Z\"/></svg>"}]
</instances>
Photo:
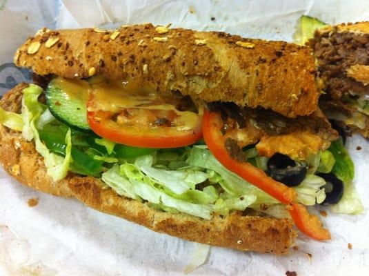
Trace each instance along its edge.
<instances>
[{"instance_id":1,"label":"round red tomato slice with sauce, next to the cucumber","mask_svg":"<svg viewBox=\"0 0 369 276\"><path fill-rule=\"evenodd\" d=\"M177 148L199 141L201 116L192 111L178 111L169 103L155 108L99 110L93 92L88 101L87 120L99 136L127 146L142 148ZM188 124L187 121L190 121Z\"/></svg>"}]
</instances>

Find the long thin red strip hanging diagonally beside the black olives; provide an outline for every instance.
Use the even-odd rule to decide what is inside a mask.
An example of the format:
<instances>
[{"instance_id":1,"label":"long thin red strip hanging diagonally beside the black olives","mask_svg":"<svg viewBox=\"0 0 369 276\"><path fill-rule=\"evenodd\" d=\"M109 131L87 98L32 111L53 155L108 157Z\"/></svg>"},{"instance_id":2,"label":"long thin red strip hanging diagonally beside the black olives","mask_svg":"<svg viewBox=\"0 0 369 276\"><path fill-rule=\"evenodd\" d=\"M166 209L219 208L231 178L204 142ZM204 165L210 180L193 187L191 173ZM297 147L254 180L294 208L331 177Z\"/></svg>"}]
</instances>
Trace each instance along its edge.
<instances>
[{"instance_id":1,"label":"long thin red strip hanging diagonally beside the black olives","mask_svg":"<svg viewBox=\"0 0 369 276\"><path fill-rule=\"evenodd\" d=\"M225 137L221 134L223 121L220 112L210 112L206 110L203 115L203 139L208 145L212 154L228 170L257 186L268 193L282 204L288 206L288 210L295 225L301 232L314 239L330 239L329 231L324 229L319 218L310 215L305 206L296 204L297 193L294 188L290 188L271 177L268 177L263 170L252 166L249 163L240 163L232 159L224 146Z\"/></svg>"}]
</instances>

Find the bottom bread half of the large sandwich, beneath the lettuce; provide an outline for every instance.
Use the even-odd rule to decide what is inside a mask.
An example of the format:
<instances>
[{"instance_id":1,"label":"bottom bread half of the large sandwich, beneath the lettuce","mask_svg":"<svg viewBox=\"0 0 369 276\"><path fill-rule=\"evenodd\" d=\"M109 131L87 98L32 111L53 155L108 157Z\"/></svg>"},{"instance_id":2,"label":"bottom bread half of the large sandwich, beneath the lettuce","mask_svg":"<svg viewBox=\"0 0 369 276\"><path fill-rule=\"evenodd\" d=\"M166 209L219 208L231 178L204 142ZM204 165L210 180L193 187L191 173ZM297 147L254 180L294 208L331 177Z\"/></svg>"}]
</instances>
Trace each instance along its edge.
<instances>
[{"instance_id":1,"label":"bottom bread half of the large sandwich, beneath the lettuce","mask_svg":"<svg viewBox=\"0 0 369 276\"><path fill-rule=\"evenodd\" d=\"M25 83L20 84L0 101L1 108L20 112ZM172 214L150 208L146 203L121 197L111 189L101 188L94 177L69 173L57 182L46 175L43 158L33 142L25 141L20 132L0 125L0 161L6 171L22 184L44 193L75 197L103 213L128 219L151 230L194 242L252 250L276 255L288 254L296 233L289 219L257 217L232 213L205 220L186 214Z\"/></svg>"}]
</instances>

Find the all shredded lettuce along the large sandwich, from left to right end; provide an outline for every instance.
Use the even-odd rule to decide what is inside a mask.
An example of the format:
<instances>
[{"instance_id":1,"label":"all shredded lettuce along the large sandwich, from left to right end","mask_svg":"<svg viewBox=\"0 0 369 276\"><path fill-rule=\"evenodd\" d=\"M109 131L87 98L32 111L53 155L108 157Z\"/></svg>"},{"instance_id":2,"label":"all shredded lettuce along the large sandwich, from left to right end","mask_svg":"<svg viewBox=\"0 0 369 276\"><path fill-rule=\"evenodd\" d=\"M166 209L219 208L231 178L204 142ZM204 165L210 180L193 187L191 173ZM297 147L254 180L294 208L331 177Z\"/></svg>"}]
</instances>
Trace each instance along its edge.
<instances>
[{"instance_id":1,"label":"all shredded lettuce along the large sandwich, from left to right end","mask_svg":"<svg viewBox=\"0 0 369 276\"><path fill-rule=\"evenodd\" d=\"M36 150L43 156L47 173L54 181L63 179L68 170L72 170L74 164L71 152L75 141L76 146L84 147L81 152L88 152L90 158L106 164L107 170L103 172L101 179L107 186L119 195L148 201L153 208L171 213L187 213L203 219L210 219L213 213L228 215L230 210L245 210L248 207L275 217L288 217L284 206L222 166L207 146L195 145L170 150L139 149L143 151L137 154L134 152L136 148L90 137L92 143L99 145L99 150L105 152L101 153L89 146L90 140L79 141L75 133L72 137L71 130L65 126L62 135L66 135L63 144L66 149L65 157L50 152L41 141L39 130L42 133L43 128L50 126L48 124L55 124L55 118L46 106L39 103L41 92L42 89L35 85L26 88L22 114L0 109L0 121L12 129L22 130L25 139L34 139ZM120 150L119 156L115 155L116 150ZM255 148L246 149L246 155L252 164L263 170L267 169L268 158L257 155ZM322 186L326 181L313 173L332 171L345 183L343 198L339 204L332 206L332 210L337 213L361 213L363 205L355 186L350 184L354 177L352 160L341 141L332 142L329 150L310 157L308 175L295 188L297 200L307 206L323 202L326 193ZM265 210L264 207L261 208L262 205L268 208Z\"/></svg>"}]
</instances>

